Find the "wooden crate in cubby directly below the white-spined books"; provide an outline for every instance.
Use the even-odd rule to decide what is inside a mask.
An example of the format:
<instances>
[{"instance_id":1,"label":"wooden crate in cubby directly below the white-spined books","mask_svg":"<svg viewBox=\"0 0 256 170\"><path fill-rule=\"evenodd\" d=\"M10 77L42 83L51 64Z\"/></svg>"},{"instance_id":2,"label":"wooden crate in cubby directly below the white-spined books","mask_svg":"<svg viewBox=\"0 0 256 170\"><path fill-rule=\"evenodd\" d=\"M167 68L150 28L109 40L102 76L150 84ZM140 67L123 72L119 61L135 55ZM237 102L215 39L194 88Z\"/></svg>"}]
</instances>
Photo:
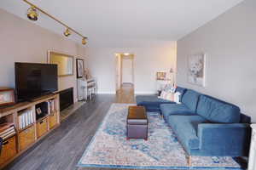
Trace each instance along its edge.
<instances>
[{"instance_id":1,"label":"wooden crate in cubby directly below the white-spined books","mask_svg":"<svg viewBox=\"0 0 256 170\"><path fill-rule=\"evenodd\" d=\"M26 149L27 146L35 142L36 140L36 132L35 125L26 128L25 130L19 133L20 137L20 150Z\"/></svg>"}]
</instances>

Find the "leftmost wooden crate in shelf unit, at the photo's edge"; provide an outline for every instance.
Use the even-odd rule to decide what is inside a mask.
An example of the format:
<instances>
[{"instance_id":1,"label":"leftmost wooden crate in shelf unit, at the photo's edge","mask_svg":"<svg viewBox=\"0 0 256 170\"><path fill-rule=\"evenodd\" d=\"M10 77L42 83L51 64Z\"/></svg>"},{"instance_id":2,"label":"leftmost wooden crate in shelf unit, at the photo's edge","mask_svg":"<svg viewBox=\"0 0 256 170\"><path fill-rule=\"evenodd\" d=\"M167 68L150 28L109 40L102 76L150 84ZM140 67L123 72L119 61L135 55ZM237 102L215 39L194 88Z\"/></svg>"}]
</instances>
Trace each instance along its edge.
<instances>
[{"instance_id":1,"label":"leftmost wooden crate in shelf unit, at the photo's edge","mask_svg":"<svg viewBox=\"0 0 256 170\"><path fill-rule=\"evenodd\" d=\"M3 142L0 165L3 165L3 163L15 157L16 153L16 136L13 136Z\"/></svg>"}]
</instances>

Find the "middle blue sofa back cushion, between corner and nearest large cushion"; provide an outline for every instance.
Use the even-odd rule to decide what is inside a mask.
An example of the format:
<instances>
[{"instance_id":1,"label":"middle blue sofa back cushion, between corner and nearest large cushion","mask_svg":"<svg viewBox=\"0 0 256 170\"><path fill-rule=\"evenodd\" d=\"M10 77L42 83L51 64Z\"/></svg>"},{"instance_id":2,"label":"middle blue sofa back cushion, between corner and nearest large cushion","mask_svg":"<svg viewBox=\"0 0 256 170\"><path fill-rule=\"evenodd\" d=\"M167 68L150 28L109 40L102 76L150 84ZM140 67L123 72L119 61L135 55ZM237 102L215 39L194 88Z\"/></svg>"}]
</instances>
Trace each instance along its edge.
<instances>
[{"instance_id":1,"label":"middle blue sofa back cushion, between corner and nearest large cushion","mask_svg":"<svg viewBox=\"0 0 256 170\"><path fill-rule=\"evenodd\" d=\"M187 105L191 111L196 111L199 96L201 94L195 92L194 90L188 89L185 94L183 94L182 103Z\"/></svg>"}]
</instances>

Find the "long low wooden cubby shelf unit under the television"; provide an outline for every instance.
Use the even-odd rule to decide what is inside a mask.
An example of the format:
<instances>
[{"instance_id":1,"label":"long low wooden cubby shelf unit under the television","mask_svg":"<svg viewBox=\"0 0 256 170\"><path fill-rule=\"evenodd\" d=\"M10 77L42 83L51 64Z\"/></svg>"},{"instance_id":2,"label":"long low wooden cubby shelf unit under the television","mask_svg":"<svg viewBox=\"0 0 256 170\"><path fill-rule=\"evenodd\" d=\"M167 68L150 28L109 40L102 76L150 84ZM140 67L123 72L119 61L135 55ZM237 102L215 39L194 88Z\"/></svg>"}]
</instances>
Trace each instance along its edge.
<instances>
[{"instance_id":1,"label":"long low wooden cubby shelf unit under the television","mask_svg":"<svg viewBox=\"0 0 256 170\"><path fill-rule=\"evenodd\" d=\"M49 112L36 119L36 105L44 102L51 103ZM29 121L24 123L20 116L30 113ZM5 108L0 108L0 126L3 123L13 124L15 135L5 139L3 149L0 155L0 169L6 167L16 157L20 156L26 150L38 143L41 139L60 126L60 104L59 94L48 94L33 101L17 103Z\"/></svg>"}]
</instances>

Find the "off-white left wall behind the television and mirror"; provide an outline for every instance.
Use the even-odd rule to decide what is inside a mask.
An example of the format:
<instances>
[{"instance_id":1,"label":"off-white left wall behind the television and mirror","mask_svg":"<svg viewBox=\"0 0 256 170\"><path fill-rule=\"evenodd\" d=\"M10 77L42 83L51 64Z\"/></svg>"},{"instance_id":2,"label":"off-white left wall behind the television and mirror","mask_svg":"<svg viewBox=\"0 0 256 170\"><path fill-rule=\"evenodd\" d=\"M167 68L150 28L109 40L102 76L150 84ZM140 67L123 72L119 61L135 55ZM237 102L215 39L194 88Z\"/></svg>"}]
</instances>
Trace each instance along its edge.
<instances>
[{"instance_id":1,"label":"off-white left wall behind the television and mirror","mask_svg":"<svg viewBox=\"0 0 256 170\"><path fill-rule=\"evenodd\" d=\"M15 62L46 63L48 50L79 57L85 53L85 48L78 43L3 9L0 9L0 37L0 87L15 87ZM59 90L71 87L76 101L75 67L73 76L59 78Z\"/></svg>"}]
</instances>

